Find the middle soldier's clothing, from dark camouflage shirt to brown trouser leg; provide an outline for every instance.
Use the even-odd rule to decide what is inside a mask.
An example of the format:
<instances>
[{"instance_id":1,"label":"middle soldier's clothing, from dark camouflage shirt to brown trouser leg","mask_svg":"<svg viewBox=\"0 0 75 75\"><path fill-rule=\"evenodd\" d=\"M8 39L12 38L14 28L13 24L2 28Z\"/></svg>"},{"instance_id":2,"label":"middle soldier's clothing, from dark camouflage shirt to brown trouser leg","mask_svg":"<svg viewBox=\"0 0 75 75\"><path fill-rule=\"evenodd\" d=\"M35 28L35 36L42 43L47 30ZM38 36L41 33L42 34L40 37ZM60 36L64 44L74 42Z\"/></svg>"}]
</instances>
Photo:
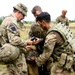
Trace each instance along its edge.
<instances>
[{"instance_id":1,"label":"middle soldier's clothing, from dark camouflage shirt to brown trouser leg","mask_svg":"<svg viewBox=\"0 0 75 75\"><path fill-rule=\"evenodd\" d=\"M32 24L31 29L29 31L29 37L38 37L38 38L44 38L46 35L46 31L44 31L37 23ZM39 54L42 53L43 48L43 42L36 45L37 51L29 51L27 54L27 64L28 64L28 73L29 75L39 75L38 73L38 66L35 62L29 62L28 58L31 56L37 57Z\"/></svg>"}]
</instances>

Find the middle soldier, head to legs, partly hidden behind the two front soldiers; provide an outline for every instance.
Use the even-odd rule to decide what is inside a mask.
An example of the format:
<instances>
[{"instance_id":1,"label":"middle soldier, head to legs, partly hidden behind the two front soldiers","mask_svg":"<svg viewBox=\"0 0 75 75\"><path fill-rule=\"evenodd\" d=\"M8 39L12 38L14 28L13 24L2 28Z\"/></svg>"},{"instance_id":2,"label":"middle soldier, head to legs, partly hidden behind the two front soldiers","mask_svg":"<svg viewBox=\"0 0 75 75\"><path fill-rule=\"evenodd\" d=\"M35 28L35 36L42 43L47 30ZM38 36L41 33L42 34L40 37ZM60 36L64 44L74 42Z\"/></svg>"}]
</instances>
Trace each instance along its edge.
<instances>
[{"instance_id":1,"label":"middle soldier, head to legs, partly hidden behind the two front soldiers","mask_svg":"<svg viewBox=\"0 0 75 75\"><path fill-rule=\"evenodd\" d=\"M42 12L42 9L40 6L34 6L33 9L31 10L32 14L34 15L34 17L36 18L41 12ZM39 25L38 23L33 23L32 26L31 26L31 29L29 31L29 38L31 37L38 37L38 38L42 38L44 39L46 35L46 31L44 31ZM35 52L29 52L31 54L27 55L28 57L31 55L34 55L35 57L38 56L39 54L42 53L42 48L43 48L43 43L44 41L42 41L41 43L39 43L38 45L36 45L36 49L37 49L37 52L38 53L35 53ZM28 69L29 69L29 75L38 75L38 66L36 65L35 63L35 66L34 64L32 63L29 63L27 61L27 64L28 64ZM35 70L35 71L34 71ZM32 74L31 74L32 73ZM43 71L43 67L39 67L39 75L43 75L45 74L44 71Z\"/></svg>"}]
</instances>

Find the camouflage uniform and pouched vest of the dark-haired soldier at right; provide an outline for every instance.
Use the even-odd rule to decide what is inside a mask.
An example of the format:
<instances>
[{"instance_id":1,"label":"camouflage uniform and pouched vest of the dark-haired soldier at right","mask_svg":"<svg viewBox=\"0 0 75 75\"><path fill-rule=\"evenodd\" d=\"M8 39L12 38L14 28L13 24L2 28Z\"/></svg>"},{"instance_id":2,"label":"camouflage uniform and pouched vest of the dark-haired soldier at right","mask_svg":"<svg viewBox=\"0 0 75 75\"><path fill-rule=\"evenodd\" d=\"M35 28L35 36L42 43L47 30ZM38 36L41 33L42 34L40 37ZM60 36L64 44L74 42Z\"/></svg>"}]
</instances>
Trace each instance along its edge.
<instances>
[{"instance_id":1,"label":"camouflage uniform and pouched vest of the dark-haired soldier at right","mask_svg":"<svg viewBox=\"0 0 75 75\"><path fill-rule=\"evenodd\" d=\"M59 32L52 30L55 26L50 24L43 53L35 61L38 66L46 63L50 75L71 75L73 50Z\"/></svg>"}]
</instances>

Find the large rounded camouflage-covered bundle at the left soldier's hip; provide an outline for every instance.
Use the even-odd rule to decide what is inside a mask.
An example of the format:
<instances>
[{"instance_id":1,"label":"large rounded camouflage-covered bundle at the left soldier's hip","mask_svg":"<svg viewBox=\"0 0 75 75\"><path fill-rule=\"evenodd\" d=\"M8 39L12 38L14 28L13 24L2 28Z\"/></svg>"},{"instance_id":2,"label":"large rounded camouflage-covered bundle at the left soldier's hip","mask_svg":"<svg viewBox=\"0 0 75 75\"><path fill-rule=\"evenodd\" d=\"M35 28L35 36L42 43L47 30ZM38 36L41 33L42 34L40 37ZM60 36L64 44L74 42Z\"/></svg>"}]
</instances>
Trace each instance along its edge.
<instances>
[{"instance_id":1,"label":"large rounded camouflage-covered bundle at the left soldier's hip","mask_svg":"<svg viewBox=\"0 0 75 75\"><path fill-rule=\"evenodd\" d=\"M0 48L0 62L10 63L18 58L19 53L19 48L11 44L4 44Z\"/></svg>"}]
</instances>

